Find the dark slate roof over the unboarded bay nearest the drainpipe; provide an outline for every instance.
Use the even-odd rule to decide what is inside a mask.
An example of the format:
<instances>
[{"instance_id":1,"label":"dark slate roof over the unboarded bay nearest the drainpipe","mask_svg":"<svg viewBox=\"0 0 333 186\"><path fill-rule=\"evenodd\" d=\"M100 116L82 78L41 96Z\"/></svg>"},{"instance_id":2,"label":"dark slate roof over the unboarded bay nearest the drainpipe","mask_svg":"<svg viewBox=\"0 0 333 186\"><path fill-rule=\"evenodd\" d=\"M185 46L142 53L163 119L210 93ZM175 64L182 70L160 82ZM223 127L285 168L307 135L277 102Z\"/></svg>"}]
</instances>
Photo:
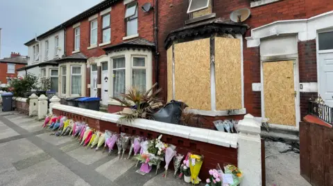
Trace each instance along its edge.
<instances>
[{"instance_id":1,"label":"dark slate roof over the unboarded bay nearest the drainpipe","mask_svg":"<svg viewBox=\"0 0 333 186\"><path fill-rule=\"evenodd\" d=\"M121 44L107 46L103 48L105 51L115 50L119 48L155 48L155 44L147 39L137 38L130 41L123 41Z\"/></svg>"}]
</instances>

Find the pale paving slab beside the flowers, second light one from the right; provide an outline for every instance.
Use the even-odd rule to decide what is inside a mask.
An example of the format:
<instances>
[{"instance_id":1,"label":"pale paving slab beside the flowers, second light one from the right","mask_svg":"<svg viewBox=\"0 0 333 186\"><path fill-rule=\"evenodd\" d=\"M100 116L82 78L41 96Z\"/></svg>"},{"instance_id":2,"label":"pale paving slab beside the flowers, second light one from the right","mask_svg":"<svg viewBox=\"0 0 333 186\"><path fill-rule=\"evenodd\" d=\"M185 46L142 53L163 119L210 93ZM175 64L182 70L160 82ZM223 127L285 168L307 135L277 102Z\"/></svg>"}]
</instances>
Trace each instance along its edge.
<instances>
[{"instance_id":1,"label":"pale paving slab beside the flowers, second light one from the right","mask_svg":"<svg viewBox=\"0 0 333 186\"><path fill-rule=\"evenodd\" d=\"M101 151L94 151L94 149L85 149L85 147L79 147L72 151L68 151L67 154L85 165L91 165L93 162L96 162L101 158L108 156L107 153L103 154L101 153Z\"/></svg>"}]
</instances>

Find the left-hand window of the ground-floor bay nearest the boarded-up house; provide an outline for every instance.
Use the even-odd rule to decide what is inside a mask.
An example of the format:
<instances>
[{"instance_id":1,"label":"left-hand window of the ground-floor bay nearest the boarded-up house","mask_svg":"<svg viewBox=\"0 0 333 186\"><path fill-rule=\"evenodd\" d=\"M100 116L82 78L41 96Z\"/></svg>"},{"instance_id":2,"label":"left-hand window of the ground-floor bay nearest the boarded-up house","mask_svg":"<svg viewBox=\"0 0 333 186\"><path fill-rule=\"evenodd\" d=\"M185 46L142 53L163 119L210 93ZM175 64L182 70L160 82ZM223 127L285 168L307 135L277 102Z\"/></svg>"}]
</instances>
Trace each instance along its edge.
<instances>
[{"instance_id":1,"label":"left-hand window of the ground-floor bay nearest the boarded-up house","mask_svg":"<svg viewBox=\"0 0 333 186\"><path fill-rule=\"evenodd\" d=\"M112 61L112 83L113 83L113 96L119 97L121 93L125 93L126 89L126 61L125 57L114 58Z\"/></svg>"}]
</instances>

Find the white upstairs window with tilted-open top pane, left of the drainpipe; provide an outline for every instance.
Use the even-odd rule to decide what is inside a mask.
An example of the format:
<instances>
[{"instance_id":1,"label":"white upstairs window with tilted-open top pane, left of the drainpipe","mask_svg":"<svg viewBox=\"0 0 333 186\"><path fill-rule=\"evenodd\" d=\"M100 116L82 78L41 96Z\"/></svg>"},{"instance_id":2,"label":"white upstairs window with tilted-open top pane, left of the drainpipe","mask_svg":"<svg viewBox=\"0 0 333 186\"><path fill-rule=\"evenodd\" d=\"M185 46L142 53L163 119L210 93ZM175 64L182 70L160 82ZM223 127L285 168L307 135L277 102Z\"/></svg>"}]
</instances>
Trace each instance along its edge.
<instances>
[{"instance_id":1,"label":"white upstairs window with tilted-open top pane, left of the drainpipe","mask_svg":"<svg viewBox=\"0 0 333 186\"><path fill-rule=\"evenodd\" d=\"M128 3L126 5L126 36L137 34L137 2Z\"/></svg>"}]
</instances>

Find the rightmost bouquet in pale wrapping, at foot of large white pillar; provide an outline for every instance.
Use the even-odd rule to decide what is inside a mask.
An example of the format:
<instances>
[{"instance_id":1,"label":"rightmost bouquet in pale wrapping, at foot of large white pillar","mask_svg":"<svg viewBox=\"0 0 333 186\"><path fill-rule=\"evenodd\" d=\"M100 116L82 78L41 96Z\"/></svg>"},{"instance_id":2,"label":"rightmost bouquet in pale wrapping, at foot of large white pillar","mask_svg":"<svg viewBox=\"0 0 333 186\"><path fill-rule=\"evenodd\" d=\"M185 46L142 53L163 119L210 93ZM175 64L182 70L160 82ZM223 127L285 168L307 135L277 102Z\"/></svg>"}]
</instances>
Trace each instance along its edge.
<instances>
[{"instance_id":1,"label":"rightmost bouquet in pale wrapping, at foot of large white pillar","mask_svg":"<svg viewBox=\"0 0 333 186\"><path fill-rule=\"evenodd\" d=\"M230 186L237 186L241 183L243 173L241 170L234 165L226 165L224 167L223 183L228 183ZM228 182L226 181L228 178Z\"/></svg>"}]
</instances>

